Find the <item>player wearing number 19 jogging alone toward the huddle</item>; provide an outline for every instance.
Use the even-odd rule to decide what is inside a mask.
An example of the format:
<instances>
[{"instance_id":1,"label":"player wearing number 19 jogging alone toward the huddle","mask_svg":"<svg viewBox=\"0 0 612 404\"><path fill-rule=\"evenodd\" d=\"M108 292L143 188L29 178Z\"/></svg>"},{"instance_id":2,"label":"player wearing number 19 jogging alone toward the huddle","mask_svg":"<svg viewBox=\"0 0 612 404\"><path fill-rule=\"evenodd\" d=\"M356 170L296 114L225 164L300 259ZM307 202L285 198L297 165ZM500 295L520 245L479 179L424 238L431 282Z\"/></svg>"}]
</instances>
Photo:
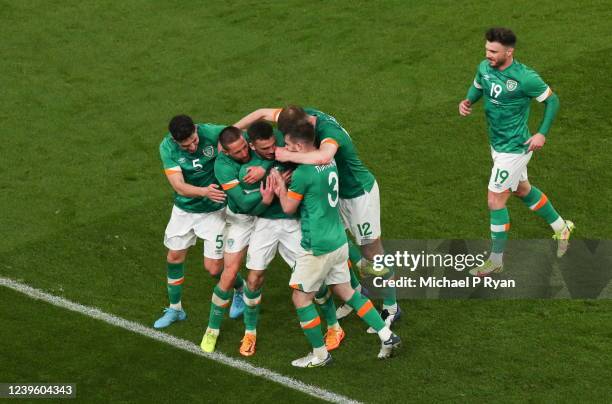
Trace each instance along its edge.
<instances>
[{"instance_id":1,"label":"player wearing number 19 jogging alone toward the huddle","mask_svg":"<svg viewBox=\"0 0 612 404\"><path fill-rule=\"evenodd\" d=\"M489 180L488 206L491 217L492 247L489 259L470 273L487 276L503 270L503 251L510 217L506 202L510 195L522 199L527 207L544 218L558 240L557 256L565 254L574 229L563 220L547 196L527 178L527 164L534 150L546 142L559 100L550 87L530 67L514 59L516 36L506 28L491 28L486 34L486 59L476 71L467 97L459 103L459 113L467 116L481 97L487 118L493 169ZM527 126L531 100L545 104L544 116L536 134Z\"/></svg>"}]
</instances>

